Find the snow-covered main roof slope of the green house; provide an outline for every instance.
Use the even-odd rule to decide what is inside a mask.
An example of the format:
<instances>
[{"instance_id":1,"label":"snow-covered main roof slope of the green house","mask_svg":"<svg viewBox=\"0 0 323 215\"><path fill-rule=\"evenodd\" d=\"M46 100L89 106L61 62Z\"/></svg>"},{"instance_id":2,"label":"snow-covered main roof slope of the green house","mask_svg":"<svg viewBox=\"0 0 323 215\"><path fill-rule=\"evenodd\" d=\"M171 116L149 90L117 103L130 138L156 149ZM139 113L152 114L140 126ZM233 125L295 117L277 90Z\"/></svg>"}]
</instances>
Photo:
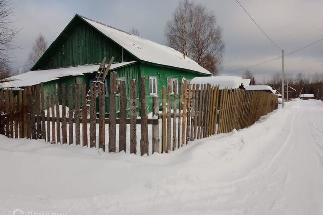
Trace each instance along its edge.
<instances>
[{"instance_id":1,"label":"snow-covered main roof slope of the green house","mask_svg":"<svg viewBox=\"0 0 323 215\"><path fill-rule=\"evenodd\" d=\"M184 59L183 54L173 48L129 34L83 16L80 17L140 60L211 75L209 71L189 57Z\"/></svg>"}]
</instances>

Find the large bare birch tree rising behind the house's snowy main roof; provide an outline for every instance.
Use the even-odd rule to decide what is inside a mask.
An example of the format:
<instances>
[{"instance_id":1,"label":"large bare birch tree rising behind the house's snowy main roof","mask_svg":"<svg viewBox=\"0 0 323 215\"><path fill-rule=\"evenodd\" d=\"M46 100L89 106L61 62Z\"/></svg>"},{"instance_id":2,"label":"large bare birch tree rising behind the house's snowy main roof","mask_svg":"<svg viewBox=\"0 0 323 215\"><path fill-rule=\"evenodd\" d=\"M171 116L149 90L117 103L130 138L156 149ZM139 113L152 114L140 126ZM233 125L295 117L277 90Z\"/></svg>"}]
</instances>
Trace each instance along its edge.
<instances>
[{"instance_id":1,"label":"large bare birch tree rising behind the house's snowy main roof","mask_svg":"<svg viewBox=\"0 0 323 215\"><path fill-rule=\"evenodd\" d=\"M224 44L213 11L188 0L180 1L165 28L167 44L216 75Z\"/></svg>"}]
</instances>

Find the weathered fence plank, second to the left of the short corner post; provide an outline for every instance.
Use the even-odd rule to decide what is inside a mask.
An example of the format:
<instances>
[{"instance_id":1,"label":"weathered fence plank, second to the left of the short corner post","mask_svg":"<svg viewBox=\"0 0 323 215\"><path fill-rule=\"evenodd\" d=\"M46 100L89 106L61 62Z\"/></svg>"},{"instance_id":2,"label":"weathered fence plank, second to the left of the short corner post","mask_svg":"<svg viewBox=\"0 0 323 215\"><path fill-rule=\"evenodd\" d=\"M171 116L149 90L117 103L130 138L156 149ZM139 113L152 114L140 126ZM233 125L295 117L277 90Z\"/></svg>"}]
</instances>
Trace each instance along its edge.
<instances>
[{"instance_id":1,"label":"weathered fence plank, second to the left of the short corner post","mask_svg":"<svg viewBox=\"0 0 323 215\"><path fill-rule=\"evenodd\" d=\"M137 154L137 94L136 80L130 80L130 153Z\"/></svg>"}]
</instances>

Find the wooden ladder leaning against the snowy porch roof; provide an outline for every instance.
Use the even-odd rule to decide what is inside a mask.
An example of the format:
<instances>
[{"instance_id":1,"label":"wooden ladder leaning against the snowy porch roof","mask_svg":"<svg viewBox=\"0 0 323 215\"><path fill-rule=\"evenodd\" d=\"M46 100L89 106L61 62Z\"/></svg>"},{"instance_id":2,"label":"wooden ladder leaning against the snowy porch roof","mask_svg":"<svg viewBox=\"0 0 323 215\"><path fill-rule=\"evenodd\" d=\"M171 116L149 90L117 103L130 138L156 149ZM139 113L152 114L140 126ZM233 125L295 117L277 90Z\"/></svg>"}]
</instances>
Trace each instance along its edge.
<instances>
[{"instance_id":1,"label":"wooden ladder leaning against the snowy porch roof","mask_svg":"<svg viewBox=\"0 0 323 215\"><path fill-rule=\"evenodd\" d=\"M92 81L92 83L95 84L95 89L96 89L96 92L95 92L95 95L94 95L94 98L91 98L91 86L89 91L87 92L87 95L86 95L86 112L87 112L87 115L89 115L90 113L90 104L91 104L91 100L92 99L96 99L97 96L98 96L98 86L99 86L99 83L101 82L105 82L105 77L107 76L107 74L109 73L109 69L110 69L110 66L113 62L115 57L111 57L110 59L110 62L109 64L107 65L107 67L105 68L105 61L106 61L106 57L103 58L102 62L101 62L101 65L99 67L99 69L97 70L96 72L96 75L95 75L95 78L94 80ZM83 108L83 107L82 107Z\"/></svg>"}]
</instances>

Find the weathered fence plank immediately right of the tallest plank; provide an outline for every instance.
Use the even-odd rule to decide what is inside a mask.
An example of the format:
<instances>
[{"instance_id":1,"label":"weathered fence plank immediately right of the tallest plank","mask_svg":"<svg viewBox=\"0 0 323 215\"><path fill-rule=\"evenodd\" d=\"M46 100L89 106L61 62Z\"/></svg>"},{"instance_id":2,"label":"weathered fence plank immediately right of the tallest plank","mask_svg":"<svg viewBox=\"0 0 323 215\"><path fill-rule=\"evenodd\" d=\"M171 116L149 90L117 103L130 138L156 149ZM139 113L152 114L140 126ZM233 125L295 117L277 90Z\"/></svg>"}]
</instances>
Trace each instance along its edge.
<instances>
[{"instance_id":1,"label":"weathered fence plank immediately right of the tallest plank","mask_svg":"<svg viewBox=\"0 0 323 215\"><path fill-rule=\"evenodd\" d=\"M126 81L120 81L120 124L119 124L119 152L127 150L127 94Z\"/></svg>"}]
</instances>

